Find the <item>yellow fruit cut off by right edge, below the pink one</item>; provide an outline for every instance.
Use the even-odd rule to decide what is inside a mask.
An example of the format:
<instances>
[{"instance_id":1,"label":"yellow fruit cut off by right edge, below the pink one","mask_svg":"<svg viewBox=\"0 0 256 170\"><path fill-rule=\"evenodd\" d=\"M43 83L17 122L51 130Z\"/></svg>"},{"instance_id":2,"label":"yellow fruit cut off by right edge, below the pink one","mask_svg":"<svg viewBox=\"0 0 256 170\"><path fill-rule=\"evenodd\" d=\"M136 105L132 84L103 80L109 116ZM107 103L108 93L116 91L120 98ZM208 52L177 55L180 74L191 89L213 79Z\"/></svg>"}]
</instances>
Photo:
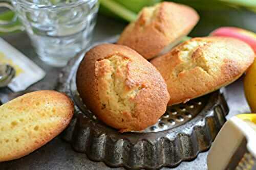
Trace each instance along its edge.
<instances>
[{"instance_id":1,"label":"yellow fruit cut off by right edge, below the pink one","mask_svg":"<svg viewBox=\"0 0 256 170\"><path fill-rule=\"evenodd\" d=\"M256 60L246 72L244 91L251 111L256 112Z\"/></svg>"}]
</instances>

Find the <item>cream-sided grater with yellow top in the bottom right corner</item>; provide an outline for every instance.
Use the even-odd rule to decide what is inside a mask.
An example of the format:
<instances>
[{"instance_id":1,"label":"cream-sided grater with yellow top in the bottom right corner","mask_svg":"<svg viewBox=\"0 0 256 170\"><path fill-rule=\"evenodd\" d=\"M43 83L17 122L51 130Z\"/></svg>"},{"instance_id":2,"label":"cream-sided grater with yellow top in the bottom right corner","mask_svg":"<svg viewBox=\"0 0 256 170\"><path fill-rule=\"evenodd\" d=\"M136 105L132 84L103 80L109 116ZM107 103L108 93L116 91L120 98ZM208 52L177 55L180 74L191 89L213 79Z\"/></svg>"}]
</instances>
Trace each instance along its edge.
<instances>
[{"instance_id":1,"label":"cream-sided grater with yellow top in the bottom right corner","mask_svg":"<svg viewBox=\"0 0 256 170\"><path fill-rule=\"evenodd\" d=\"M209 170L256 170L255 117L240 114L225 123L208 153Z\"/></svg>"}]
</instances>

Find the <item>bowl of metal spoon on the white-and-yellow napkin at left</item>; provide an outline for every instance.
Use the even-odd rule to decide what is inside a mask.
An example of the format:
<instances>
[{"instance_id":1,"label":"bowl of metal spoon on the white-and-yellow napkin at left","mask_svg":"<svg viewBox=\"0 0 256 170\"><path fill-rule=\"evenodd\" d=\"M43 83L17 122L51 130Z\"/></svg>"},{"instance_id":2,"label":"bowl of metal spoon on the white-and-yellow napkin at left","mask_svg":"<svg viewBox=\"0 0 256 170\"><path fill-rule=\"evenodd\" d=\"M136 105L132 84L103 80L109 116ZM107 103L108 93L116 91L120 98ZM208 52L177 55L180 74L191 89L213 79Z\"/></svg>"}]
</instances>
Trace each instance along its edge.
<instances>
[{"instance_id":1,"label":"bowl of metal spoon on the white-and-yellow napkin at left","mask_svg":"<svg viewBox=\"0 0 256 170\"><path fill-rule=\"evenodd\" d=\"M0 87L6 87L15 77L16 71L10 65L0 65Z\"/></svg>"}]
</instances>

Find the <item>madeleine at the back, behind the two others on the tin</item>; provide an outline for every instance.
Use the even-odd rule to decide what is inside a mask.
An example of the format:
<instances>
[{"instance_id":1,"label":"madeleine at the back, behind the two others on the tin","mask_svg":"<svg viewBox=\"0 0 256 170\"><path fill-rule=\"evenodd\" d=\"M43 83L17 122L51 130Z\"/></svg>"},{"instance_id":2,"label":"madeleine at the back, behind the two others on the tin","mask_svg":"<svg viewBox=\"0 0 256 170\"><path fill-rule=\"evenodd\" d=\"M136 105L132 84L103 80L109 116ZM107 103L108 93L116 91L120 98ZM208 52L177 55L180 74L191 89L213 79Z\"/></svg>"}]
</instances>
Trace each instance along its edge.
<instances>
[{"instance_id":1,"label":"madeleine at the back, behind the two others on the tin","mask_svg":"<svg viewBox=\"0 0 256 170\"><path fill-rule=\"evenodd\" d=\"M117 43L151 59L165 51L170 43L187 35L198 20L194 9L181 4L163 2L145 7L138 19L124 29Z\"/></svg>"}]
</instances>

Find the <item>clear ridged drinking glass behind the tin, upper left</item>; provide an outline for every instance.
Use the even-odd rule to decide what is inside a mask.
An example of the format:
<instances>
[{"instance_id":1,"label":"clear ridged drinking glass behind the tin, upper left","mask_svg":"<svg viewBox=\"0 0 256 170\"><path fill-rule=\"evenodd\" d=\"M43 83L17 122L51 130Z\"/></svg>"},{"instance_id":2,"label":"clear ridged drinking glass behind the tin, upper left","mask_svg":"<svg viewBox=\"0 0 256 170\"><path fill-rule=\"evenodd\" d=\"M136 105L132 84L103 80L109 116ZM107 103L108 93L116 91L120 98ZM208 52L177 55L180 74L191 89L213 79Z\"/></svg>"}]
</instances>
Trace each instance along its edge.
<instances>
[{"instance_id":1,"label":"clear ridged drinking glass behind the tin, upper left","mask_svg":"<svg viewBox=\"0 0 256 170\"><path fill-rule=\"evenodd\" d=\"M97 0L11 0L11 3L36 53L50 65L66 65L92 39ZM3 4L9 8L6 3L0 6Z\"/></svg>"}]
</instances>

